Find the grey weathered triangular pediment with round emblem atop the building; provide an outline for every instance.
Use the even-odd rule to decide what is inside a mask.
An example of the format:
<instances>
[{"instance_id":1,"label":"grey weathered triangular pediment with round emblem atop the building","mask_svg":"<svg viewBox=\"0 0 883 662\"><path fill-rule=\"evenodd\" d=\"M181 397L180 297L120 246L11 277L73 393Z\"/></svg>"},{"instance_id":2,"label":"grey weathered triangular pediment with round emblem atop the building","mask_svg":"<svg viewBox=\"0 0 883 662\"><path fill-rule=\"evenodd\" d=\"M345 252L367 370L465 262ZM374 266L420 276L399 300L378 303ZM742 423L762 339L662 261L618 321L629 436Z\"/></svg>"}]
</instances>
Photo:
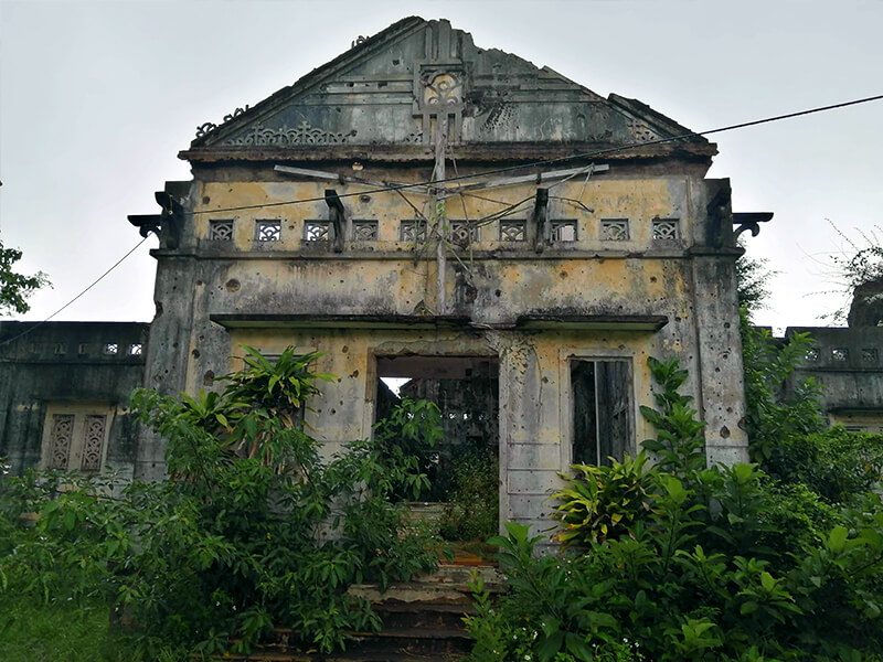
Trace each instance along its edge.
<instances>
[{"instance_id":1,"label":"grey weathered triangular pediment with round emblem atop the building","mask_svg":"<svg viewBox=\"0 0 883 662\"><path fill-rule=\"evenodd\" d=\"M201 127L182 156L248 158L328 146L422 152L443 134L462 147L616 147L688 132L639 102L604 98L549 67L477 47L447 21L417 17L224 119ZM713 153L704 139L690 142Z\"/></svg>"}]
</instances>

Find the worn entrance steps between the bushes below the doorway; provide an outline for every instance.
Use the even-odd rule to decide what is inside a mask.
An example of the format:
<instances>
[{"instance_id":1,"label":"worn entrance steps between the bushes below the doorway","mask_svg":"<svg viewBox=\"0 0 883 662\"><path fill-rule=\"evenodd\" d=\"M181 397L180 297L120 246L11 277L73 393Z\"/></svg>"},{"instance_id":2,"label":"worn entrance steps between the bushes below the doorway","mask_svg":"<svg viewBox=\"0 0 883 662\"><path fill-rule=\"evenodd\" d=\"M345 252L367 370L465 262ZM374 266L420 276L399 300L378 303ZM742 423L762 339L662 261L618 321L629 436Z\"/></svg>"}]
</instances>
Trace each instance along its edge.
<instances>
[{"instance_id":1,"label":"worn entrance steps between the bushes below the doorway","mask_svg":"<svg viewBox=\"0 0 883 662\"><path fill-rule=\"evenodd\" d=\"M491 566L439 566L432 575L393 584L381 591L377 585L361 584L352 595L371 601L380 616L380 632L351 632L347 650L336 653L307 651L289 643L290 630L278 629L275 640L254 647L251 655L226 653L223 660L256 662L458 662L472 648L462 617L474 613L468 583L472 573L486 590L500 592L502 579Z\"/></svg>"}]
</instances>

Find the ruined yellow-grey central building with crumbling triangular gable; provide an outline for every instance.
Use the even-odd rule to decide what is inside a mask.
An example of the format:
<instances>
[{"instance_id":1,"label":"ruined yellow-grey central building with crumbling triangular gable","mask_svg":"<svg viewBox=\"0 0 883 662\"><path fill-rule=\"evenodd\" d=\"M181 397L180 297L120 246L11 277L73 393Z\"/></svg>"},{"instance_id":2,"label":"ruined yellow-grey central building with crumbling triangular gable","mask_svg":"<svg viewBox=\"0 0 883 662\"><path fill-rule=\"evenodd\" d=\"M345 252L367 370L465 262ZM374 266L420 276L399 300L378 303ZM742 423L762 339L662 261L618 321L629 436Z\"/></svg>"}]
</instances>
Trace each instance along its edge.
<instances>
[{"instance_id":1,"label":"ruined yellow-grey central building with crumbling triangular gable","mask_svg":"<svg viewBox=\"0 0 883 662\"><path fill-rule=\"evenodd\" d=\"M331 452L406 381L443 408L439 461L491 449L501 519L535 523L571 462L653 434L647 359L677 356L709 460L744 460L735 237L770 215L732 213L715 153L640 102L404 19L200 127L192 181L130 217L160 236L145 384L211 387L243 344L325 352L338 380L306 416ZM0 455L64 444L66 410L40 402L40 440L4 433ZM156 437L123 455L163 474Z\"/></svg>"}]
</instances>

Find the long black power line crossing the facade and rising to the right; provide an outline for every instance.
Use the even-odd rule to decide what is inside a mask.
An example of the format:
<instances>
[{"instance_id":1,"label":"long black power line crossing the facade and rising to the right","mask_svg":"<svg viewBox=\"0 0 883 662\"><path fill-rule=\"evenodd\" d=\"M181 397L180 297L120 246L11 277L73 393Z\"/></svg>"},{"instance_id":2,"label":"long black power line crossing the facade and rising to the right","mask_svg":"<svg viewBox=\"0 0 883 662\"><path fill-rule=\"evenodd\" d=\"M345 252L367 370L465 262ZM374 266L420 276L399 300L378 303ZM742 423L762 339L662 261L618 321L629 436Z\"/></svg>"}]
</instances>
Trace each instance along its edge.
<instances>
[{"instance_id":1,"label":"long black power line crossing the facade and rising to the right","mask_svg":"<svg viewBox=\"0 0 883 662\"><path fill-rule=\"evenodd\" d=\"M804 115L813 115L816 113L825 113L827 110L836 110L838 108L845 108L848 106L857 106L859 104L868 104L870 102L879 102L883 99L883 94L879 94L875 96L864 97L861 99L853 99L851 102L842 102L840 104L832 104L830 106L819 106L816 108L808 108L806 110L798 110L796 113L787 113L785 115L775 115L773 117L764 117L762 119L754 119L751 121L743 121L735 125L728 125L725 127L720 127L716 129L709 129L706 131L689 131L687 134L681 134L679 136L672 136L670 138L657 138L656 140L646 140L643 142L631 142L629 145L623 145L619 147L610 147L607 149L602 149L594 152L582 152L577 154L571 154L567 157L557 157L555 159L545 159L542 161L533 161L530 163L521 163L518 166L508 166L506 168L497 168L494 170L486 170L483 172L477 172L474 174L461 174L451 178L445 179L437 179L437 180L428 180L424 182L416 182L413 184L394 184L390 186L382 186L376 189L369 189L368 191L359 191L353 193L340 193L338 197L352 197L354 195L370 195L373 193L385 193L387 191L405 191L407 189L416 189L416 188L425 188L432 186L434 184L444 184L448 182L457 182L468 179L476 179L479 177L487 177L489 174L500 174L503 172L512 172L514 170L524 170L525 168L536 168L538 166L551 166L553 163L563 163L565 161L573 161L576 159L594 159L597 157L604 157L607 154L626 151L629 149L634 149L636 147L648 147L650 145L663 145L667 142L675 142L678 140L685 140L688 138L699 138L702 136L711 136L713 134L722 134L724 131L733 131L735 129L744 129L747 127L755 127L763 124L769 124L773 121L780 121L783 119L791 119L795 117L802 117ZM200 210L195 212L184 212L185 214L190 214L195 216L196 214L217 214L223 212L241 212L246 210L260 210L260 209L268 209L268 207L276 207L276 206L287 206L290 204L302 204L307 202L325 202L325 196L322 197L304 197L300 200L287 200L283 202L267 202L263 204L248 204L243 206L235 206L235 207L224 207L217 210Z\"/></svg>"}]
</instances>

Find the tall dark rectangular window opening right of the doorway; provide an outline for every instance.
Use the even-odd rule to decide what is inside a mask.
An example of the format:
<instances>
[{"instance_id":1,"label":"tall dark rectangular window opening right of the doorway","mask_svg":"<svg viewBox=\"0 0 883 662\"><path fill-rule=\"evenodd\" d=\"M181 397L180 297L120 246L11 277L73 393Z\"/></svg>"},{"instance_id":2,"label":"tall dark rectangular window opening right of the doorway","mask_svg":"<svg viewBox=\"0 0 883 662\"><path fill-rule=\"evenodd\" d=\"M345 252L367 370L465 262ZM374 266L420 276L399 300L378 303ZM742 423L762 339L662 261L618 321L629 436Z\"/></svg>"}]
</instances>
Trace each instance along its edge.
<instances>
[{"instance_id":1,"label":"tall dark rectangular window opening right of the doorway","mask_svg":"<svg viewBox=\"0 0 883 662\"><path fill-rule=\"evenodd\" d=\"M572 361L571 401L574 465L609 466L634 450L628 361Z\"/></svg>"}]
</instances>

